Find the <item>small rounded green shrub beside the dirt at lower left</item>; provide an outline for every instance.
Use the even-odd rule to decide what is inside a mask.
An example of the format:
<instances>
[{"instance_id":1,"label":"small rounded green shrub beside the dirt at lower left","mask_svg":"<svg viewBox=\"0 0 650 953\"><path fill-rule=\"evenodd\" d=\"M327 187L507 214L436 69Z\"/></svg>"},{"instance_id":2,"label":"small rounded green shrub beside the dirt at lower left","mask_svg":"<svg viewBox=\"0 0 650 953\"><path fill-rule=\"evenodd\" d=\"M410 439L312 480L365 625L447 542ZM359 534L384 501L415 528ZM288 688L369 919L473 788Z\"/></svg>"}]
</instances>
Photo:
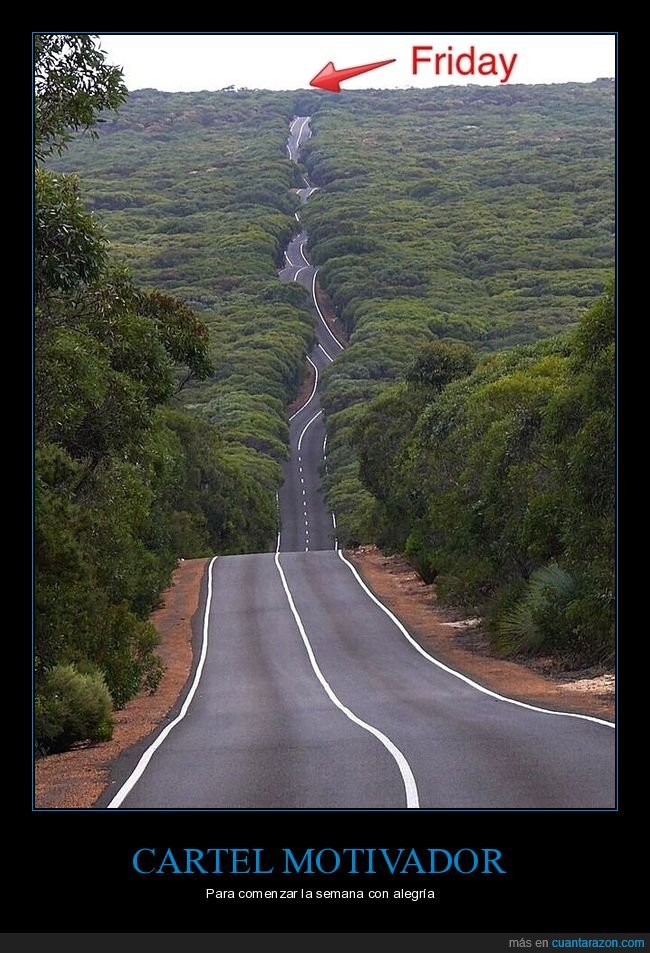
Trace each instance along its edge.
<instances>
[{"instance_id":1,"label":"small rounded green shrub beside the dirt at lower left","mask_svg":"<svg viewBox=\"0 0 650 953\"><path fill-rule=\"evenodd\" d=\"M77 741L109 741L113 704L101 672L56 665L43 677L36 697L36 746L65 751Z\"/></svg>"}]
</instances>

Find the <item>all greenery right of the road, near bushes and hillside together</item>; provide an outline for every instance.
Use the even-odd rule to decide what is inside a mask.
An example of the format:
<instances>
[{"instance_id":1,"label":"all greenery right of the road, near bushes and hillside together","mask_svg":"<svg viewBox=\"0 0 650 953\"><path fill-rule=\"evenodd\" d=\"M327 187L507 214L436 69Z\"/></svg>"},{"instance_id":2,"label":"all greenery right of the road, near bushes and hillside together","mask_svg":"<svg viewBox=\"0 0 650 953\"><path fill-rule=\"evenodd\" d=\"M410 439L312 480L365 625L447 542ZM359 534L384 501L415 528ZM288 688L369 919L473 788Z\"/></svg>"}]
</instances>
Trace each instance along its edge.
<instances>
[{"instance_id":1,"label":"all greenery right of the road, near bushes and hillside together","mask_svg":"<svg viewBox=\"0 0 650 953\"><path fill-rule=\"evenodd\" d=\"M611 661L614 83L365 91L312 127L341 543L405 553L504 653Z\"/></svg>"}]
</instances>

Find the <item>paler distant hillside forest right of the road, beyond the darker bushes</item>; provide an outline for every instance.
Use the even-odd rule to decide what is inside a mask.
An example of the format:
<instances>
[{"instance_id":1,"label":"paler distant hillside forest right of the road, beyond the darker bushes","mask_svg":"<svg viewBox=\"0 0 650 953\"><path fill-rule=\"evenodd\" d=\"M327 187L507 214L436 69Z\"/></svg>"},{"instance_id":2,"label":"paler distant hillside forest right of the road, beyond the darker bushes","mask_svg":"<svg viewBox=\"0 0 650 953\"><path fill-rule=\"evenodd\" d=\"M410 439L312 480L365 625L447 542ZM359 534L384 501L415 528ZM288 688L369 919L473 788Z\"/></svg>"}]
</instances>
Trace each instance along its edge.
<instances>
[{"instance_id":1,"label":"paler distant hillside forest right of the road, beyond the darker bushes","mask_svg":"<svg viewBox=\"0 0 650 953\"><path fill-rule=\"evenodd\" d=\"M351 439L358 403L402 379L423 345L531 344L575 326L602 293L614 84L309 95L304 161L320 188L303 221L350 334L323 403L329 498L351 543L347 514L368 508Z\"/></svg>"}]
</instances>

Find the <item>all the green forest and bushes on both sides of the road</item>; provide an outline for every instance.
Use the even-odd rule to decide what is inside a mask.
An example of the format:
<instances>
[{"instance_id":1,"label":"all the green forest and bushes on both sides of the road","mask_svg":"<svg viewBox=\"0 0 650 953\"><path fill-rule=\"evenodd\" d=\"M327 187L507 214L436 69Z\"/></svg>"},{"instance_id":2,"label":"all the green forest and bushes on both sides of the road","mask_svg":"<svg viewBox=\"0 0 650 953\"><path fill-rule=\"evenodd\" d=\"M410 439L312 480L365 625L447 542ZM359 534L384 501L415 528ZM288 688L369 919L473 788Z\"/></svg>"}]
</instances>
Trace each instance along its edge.
<instances>
[{"instance_id":1,"label":"all the green forest and bushes on both sides of the road","mask_svg":"<svg viewBox=\"0 0 650 953\"><path fill-rule=\"evenodd\" d=\"M35 123L39 752L155 690L178 559L272 548L302 170L350 335L323 377L342 545L405 553L504 653L611 659L613 83L127 95L91 37L42 34Z\"/></svg>"}]
</instances>

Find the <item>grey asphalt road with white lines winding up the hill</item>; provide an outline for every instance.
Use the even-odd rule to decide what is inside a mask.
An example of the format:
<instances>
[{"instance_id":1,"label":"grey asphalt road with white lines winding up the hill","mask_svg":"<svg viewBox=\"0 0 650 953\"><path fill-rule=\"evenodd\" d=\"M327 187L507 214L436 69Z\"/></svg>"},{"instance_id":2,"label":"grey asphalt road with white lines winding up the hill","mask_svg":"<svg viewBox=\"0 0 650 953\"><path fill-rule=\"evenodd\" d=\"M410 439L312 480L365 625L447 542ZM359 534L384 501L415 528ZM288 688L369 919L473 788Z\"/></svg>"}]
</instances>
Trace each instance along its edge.
<instances>
[{"instance_id":1,"label":"grey asphalt road with white lines winding up the hill","mask_svg":"<svg viewBox=\"0 0 650 953\"><path fill-rule=\"evenodd\" d=\"M309 117L294 118L292 161L310 135ZM305 179L301 202L314 191ZM306 246L301 231L280 272L311 294L317 344L313 389L290 421L277 551L210 562L182 707L118 762L97 806L614 808L611 723L499 696L443 665L339 551L320 488L318 382L342 346Z\"/></svg>"}]
</instances>

